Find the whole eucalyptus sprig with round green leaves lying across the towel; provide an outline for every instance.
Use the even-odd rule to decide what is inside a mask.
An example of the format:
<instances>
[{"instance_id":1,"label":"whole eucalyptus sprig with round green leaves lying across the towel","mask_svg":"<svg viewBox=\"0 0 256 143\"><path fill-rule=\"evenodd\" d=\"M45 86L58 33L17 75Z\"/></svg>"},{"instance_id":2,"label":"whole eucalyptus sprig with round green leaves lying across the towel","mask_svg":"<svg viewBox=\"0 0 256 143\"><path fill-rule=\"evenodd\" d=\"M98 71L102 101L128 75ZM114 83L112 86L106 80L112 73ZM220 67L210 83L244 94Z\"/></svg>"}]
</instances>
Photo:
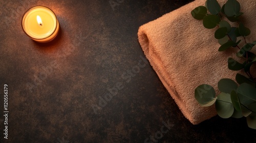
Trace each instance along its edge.
<instances>
[{"instance_id":1,"label":"whole eucalyptus sprig with round green leaves lying across the towel","mask_svg":"<svg viewBox=\"0 0 256 143\"><path fill-rule=\"evenodd\" d=\"M256 129L256 78L252 76L251 66L256 64L256 55L251 51L256 41L247 42L246 37L251 31L241 21L240 3L228 0L222 7L216 0L207 0L205 6L199 6L191 11L191 15L203 21L207 29L218 27L214 37L218 40L220 52L230 48L237 49L237 57L244 60L240 63L234 58L227 59L230 70L243 70L245 75L237 74L236 82L231 79L221 79L218 82L220 94L216 96L214 88L208 84L199 85L195 89L195 98L203 106L215 103L216 111L222 118L245 116L248 127ZM224 20L226 17L228 20ZM230 22L236 22L238 27L231 27ZM235 25L236 25L235 23ZM241 37L241 41L238 40ZM241 39L240 38L240 39Z\"/></svg>"}]
</instances>

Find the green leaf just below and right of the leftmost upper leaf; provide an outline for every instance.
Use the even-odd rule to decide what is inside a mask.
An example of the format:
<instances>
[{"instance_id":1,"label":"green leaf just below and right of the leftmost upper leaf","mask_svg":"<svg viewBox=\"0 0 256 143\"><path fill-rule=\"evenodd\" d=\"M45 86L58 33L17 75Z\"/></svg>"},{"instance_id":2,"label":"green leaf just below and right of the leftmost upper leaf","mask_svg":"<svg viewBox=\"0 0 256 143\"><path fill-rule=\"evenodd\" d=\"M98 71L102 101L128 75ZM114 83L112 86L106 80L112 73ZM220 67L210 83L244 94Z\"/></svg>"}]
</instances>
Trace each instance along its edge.
<instances>
[{"instance_id":1,"label":"green leaf just below and right of the leftmost upper leaf","mask_svg":"<svg viewBox=\"0 0 256 143\"><path fill-rule=\"evenodd\" d=\"M220 17L217 15L206 15L203 18L203 25L207 29L215 28L221 21Z\"/></svg>"}]
</instances>

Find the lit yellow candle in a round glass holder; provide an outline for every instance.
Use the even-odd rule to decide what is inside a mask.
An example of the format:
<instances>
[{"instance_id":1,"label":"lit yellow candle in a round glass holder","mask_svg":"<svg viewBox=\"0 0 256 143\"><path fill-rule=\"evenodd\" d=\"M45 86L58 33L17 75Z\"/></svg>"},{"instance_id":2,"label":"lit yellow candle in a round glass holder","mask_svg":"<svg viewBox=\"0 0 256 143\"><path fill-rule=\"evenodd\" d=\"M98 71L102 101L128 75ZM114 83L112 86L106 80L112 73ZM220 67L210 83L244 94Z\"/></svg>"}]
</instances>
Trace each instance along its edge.
<instances>
[{"instance_id":1,"label":"lit yellow candle in a round glass holder","mask_svg":"<svg viewBox=\"0 0 256 143\"><path fill-rule=\"evenodd\" d=\"M59 31L59 22L54 12L43 6L30 8L22 17L23 31L41 43L53 40Z\"/></svg>"}]
</instances>

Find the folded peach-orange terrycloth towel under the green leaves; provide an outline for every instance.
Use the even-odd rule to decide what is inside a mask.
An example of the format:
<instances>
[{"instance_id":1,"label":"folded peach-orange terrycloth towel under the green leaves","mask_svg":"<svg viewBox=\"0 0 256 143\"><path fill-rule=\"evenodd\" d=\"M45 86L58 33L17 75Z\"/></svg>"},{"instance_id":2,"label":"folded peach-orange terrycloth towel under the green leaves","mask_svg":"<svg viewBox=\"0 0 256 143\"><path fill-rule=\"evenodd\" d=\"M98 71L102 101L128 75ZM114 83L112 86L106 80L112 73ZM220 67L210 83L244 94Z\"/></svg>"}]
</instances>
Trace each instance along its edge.
<instances>
[{"instance_id":1,"label":"folded peach-orange terrycloth towel under the green leaves","mask_svg":"<svg viewBox=\"0 0 256 143\"><path fill-rule=\"evenodd\" d=\"M222 6L226 0L218 2ZM201 107L197 103L195 88L206 83L218 89L220 79L234 79L237 74L237 71L227 68L227 58L236 58L234 52L231 49L218 52L220 45L214 38L217 28L205 29L202 21L190 14L191 10L204 4L205 0L189 3L146 23L138 32L146 58L192 124L199 124L217 114L215 106ZM256 37L256 1L240 1L240 4L244 24L251 30L247 40L253 41L250 37Z\"/></svg>"}]
</instances>

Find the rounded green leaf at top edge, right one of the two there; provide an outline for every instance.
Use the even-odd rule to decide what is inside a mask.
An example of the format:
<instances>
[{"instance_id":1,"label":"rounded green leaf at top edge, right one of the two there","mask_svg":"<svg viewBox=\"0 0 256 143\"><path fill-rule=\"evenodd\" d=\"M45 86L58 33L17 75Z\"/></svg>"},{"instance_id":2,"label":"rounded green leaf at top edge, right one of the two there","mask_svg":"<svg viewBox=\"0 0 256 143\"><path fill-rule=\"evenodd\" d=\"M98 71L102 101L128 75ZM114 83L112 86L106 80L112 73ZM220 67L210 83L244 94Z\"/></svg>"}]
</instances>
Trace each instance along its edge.
<instances>
[{"instance_id":1,"label":"rounded green leaf at top edge, right one of the two there","mask_svg":"<svg viewBox=\"0 0 256 143\"><path fill-rule=\"evenodd\" d=\"M227 16L235 16L240 12L240 4L236 0L228 0L225 4L224 12Z\"/></svg>"}]
</instances>

